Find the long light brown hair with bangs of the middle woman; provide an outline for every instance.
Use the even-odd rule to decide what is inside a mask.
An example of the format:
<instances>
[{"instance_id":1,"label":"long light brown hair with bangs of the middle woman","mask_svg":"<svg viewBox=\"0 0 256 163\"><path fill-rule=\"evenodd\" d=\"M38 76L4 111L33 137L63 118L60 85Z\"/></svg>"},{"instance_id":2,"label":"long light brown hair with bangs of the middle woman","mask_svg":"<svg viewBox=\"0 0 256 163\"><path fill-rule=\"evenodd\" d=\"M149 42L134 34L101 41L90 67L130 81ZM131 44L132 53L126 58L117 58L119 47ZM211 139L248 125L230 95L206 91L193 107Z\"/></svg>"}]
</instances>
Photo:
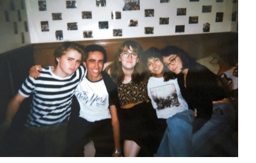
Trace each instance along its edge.
<instances>
[{"instance_id":1,"label":"long light brown hair with bangs of the middle woman","mask_svg":"<svg viewBox=\"0 0 256 163\"><path fill-rule=\"evenodd\" d=\"M114 62L106 67L106 71L110 74L111 78L117 84L123 82L124 80L122 65L119 61L120 54L124 51L125 48L130 49L130 47L132 47L133 52L136 52L136 54L138 54L139 59L139 62L136 63L132 73L132 81L140 84L146 82L146 80L148 79L148 74L145 72L146 68L140 61L141 54L143 52L141 45L133 40L126 40L121 44L120 48L117 51L117 54L115 54Z\"/></svg>"}]
</instances>

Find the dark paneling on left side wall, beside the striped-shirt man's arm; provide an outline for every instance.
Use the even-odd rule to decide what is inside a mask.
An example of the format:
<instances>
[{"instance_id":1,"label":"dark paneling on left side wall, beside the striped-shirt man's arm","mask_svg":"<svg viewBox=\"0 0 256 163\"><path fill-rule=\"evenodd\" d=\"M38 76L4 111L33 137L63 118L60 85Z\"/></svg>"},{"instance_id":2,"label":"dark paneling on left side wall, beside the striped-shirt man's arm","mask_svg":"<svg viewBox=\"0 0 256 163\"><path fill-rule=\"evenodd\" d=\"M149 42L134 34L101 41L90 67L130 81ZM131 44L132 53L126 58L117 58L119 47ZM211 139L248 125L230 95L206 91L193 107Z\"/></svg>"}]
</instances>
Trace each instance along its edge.
<instances>
[{"instance_id":1,"label":"dark paneling on left side wall, beside the striped-shirt man's arm","mask_svg":"<svg viewBox=\"0 0 256 163\"><path fill-rule=\"evenodd\" d=\"M5 117L8 103L35 65L32 45L0 55L0 123Z\"/></svg>"}]
</instances>

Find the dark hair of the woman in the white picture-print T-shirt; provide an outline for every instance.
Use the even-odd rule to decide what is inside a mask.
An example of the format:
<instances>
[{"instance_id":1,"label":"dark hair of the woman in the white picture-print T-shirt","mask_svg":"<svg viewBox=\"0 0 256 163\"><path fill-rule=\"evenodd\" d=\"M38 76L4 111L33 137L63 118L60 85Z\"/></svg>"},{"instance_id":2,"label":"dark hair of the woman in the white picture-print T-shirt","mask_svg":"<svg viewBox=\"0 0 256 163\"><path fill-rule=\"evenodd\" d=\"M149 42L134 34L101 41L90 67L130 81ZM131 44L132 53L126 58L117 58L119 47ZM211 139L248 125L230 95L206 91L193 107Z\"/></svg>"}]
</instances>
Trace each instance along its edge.
<instances>
[{"instance_id":1,"label":"dark hair of the woman in the white picture-print T-shirt","mask_svg":"<svg viewBox=\"0 0 256 163\"><path fill-rule=\"evenodd\" d=\"M148 59L150 58L158 58L160 59L160 61L163 63L163 55L161 53L161 50L155 47L151 47L148 50L146 50L145 52L143 52L143 55L141 57L141 60L143 62L143 64L145 65L145 67L148 67ZM149 71L149 70L148 70ZM170 70L168 70L168 68L166 67L166 65L164 65L164 82L167 82L170 79L175 79L175 76L173 73L170 73ZM149 72L150 73L150 72Z\"/></svg>"}]
</instances>

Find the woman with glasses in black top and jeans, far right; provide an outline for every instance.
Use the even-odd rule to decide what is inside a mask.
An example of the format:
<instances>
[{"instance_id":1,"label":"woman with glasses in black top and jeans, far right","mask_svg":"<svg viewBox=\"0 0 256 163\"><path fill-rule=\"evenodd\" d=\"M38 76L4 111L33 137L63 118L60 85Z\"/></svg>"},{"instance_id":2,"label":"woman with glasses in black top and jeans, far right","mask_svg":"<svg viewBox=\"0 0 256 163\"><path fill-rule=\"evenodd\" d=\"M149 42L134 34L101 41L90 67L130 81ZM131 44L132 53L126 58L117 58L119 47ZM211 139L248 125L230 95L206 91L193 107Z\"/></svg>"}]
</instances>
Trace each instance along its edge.
<instances>
[{"instance_id":1,"label":"woman with glasses in black top and jeans, far right","mask_svg":"<svg viewBox=\"0 0 256 163\"><path fill-rule=\"evenodd\" d=\"M192 124L192 133L188 133L188 137L193 134L192 143L189 145L192 150L191 156L213 154L210 151L216 145L213 144L214 140L216 141L214 137L218 137L217 143L226 150L227 155L238 156L235 145L227 138L233 130L235 112L229 101L219 102L227 98L228 94L218 85L217 75L177 46L166 46L161 51L164 64L177 75L180 91L189 108L196 109L195 118L188 121L187 126L191 128ZM171 141L170 134L171 132L166 131L160 149ZM166 149L160 151L158 149L158 155L164 155L166 151Z\"/></svg>"}]
</instances>

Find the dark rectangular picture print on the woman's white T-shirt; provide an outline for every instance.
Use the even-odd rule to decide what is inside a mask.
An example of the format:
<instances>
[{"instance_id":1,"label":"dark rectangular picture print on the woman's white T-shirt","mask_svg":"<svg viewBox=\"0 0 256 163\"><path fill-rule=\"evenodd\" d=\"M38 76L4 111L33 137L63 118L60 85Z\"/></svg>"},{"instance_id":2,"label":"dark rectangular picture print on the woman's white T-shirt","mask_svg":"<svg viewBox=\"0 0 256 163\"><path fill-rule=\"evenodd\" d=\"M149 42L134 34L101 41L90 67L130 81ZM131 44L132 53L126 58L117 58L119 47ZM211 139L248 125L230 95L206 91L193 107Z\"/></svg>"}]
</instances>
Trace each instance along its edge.
<instances>
[{"instance_id":1,"label":"dark rectangular picture print on the woman's white T-shirt","mask_svg":"<svg viewBox=\"0 0 256 163\"><path fill-rule=\"evenodd\" d=\"M177 90L174 84L167 84L159 87L152 87L150 93L153 101L157 104L157 109L179 106Z\"/></svg>"}]
</instances>

